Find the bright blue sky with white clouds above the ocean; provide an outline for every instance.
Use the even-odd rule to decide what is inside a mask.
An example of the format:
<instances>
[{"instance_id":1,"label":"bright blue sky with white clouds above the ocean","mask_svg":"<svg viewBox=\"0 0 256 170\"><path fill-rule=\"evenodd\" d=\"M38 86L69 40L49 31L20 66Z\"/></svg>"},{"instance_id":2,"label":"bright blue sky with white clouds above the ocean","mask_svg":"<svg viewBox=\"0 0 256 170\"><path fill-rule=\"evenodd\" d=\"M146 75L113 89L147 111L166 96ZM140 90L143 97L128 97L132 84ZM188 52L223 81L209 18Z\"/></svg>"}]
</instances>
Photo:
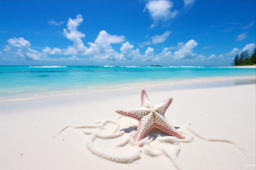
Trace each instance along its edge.
<instances>
[{"instance_id":1,"label":"bright blue sky with white clouds above the ocean","mask_svg":"<svg viewBox=\"0 0 256 170\"><path fill-rule=\"evenodd\" d=\"M229 66L256 2L0 1L0 65Z\"/></svg>"}]
</instances>

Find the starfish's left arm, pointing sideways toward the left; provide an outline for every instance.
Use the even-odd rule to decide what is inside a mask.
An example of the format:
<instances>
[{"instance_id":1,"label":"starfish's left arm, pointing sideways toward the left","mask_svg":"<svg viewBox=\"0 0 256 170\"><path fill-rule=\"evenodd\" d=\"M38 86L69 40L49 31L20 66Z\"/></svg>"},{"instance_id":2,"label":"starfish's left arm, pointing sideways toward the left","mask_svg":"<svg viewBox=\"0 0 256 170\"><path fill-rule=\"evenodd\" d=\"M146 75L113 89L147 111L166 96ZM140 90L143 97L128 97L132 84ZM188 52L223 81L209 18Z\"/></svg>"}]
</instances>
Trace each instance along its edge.
<instances>
[{"instance_id":1,"label":"starfish's left arm, pointing sideways toward the left","mask_svg":"<svg viewBox=\"0 0 256 170\"><path fill-rule=\"evenodd\" d=\"M148 112L144 108L117 109L115 111L116 111L116 113L118 113L120 115L131 117L136 120L140 120L145 115L145 113Z\"/></svg>"}]
</instances>

